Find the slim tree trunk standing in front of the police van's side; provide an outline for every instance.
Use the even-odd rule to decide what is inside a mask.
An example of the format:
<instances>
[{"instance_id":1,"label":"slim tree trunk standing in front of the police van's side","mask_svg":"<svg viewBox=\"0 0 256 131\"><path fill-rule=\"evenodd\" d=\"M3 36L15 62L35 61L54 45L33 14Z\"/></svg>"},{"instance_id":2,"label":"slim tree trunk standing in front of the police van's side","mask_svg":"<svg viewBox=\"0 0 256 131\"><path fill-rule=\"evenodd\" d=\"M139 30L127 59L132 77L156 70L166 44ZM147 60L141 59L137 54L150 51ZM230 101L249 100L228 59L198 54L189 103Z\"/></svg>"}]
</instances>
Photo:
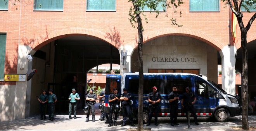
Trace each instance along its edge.
<instances>
[{"instance_id":1,"label":"slim tree trunk standing in front of the police van's side","mask_svg":"<svg viewBox=\"0 0 256 131\"><path fill-rule=\"evenodd\" d=\"M139 8L135 7L135 10L139 12ZM142 20L140 14L136 15L138 24L138 69L139 69L139 85L138 85L138 131L143 131L143 29Z\"/></svg>"}]
</instances>

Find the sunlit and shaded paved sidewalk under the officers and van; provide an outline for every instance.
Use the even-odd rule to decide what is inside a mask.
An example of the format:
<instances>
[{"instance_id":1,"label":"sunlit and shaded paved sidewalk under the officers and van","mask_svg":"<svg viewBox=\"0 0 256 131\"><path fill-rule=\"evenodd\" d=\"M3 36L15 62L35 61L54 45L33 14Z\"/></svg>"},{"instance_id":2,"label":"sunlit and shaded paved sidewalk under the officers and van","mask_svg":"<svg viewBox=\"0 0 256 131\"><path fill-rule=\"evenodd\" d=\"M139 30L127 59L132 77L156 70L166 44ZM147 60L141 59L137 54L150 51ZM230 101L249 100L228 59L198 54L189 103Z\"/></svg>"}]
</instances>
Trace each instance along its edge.
<instances>
[{"instance_id":1,"label":"sunlit and shaded paved sidewalk under the officers and van","mask_svg":"<svg viewBox=\"0 0 256 131\"><path fill-rule=\"evenodd\" d=\"M57 114L54 121L40 120L40 116L33 116L27 119L12 120L12 121L0 121L1 131L12 131L12 130L31 130L31 131L127 131L128 129L136 129L136 126L123 126L121 127L122 119L118 118L118 126L108 127L105 121L99 121L100 112L95 106L95 120L92 122L92 116L90 115L89 122L85 123L86 115L83 110L78 110L77 119L68 120L68 114ZM253 126L256 129L256 116L248 116L249 126ZM198 117L199 126L194 124L194 119L191 119L191 129L187 129L187 119L185 117L178 117L177 119L179 126L170 125L170 117L161 117L158 119L159 126L154 125L154 118L152 118L150 126L144 124L144 128L150 129L151 131L233 131L231 127L242 127L242 116L230 117L228 123L217 123L209 117Z\"/></svg>"}]
</instances>

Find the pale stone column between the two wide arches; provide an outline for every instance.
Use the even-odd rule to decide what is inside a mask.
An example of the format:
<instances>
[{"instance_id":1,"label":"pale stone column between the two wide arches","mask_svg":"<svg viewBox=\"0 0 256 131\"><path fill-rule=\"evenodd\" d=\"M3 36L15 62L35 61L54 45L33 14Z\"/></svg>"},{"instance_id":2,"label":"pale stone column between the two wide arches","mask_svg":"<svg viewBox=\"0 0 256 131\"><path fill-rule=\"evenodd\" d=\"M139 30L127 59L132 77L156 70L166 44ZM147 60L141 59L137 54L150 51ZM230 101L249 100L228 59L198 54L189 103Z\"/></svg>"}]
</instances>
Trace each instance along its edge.
<instances>
[{"instance_id":1,"label":"pale stone column between the two wide arches","mask_svg":"<svg viewBox=\"0 0 256 131\"><path fill-rule=\"evenodd\" d=\"M131 71L131 54L134 49L131 45L122 45L118 50L120 53L120 75L123 76L124 73Z\"/></svg>"}]
</instances>

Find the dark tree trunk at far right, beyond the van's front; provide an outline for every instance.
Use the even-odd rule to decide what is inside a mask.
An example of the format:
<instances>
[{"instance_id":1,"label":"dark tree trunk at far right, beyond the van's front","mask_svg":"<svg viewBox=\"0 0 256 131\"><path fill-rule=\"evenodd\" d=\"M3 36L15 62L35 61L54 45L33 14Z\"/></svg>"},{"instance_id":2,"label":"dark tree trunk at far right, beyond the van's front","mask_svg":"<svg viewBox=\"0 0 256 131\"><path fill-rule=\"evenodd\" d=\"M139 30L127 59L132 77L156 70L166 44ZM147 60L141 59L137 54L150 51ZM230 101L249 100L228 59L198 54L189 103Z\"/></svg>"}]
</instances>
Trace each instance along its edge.
<instances>
[{"instance_id":1,"label":"dark tree trunk at far right, beyond the van's front","mask_svg":"<svg viewBox=\"0 0 256 131\"><path fill-rule=\"evenodd\" d=\"M248 52L247 52L247 30L240 26L242 18L237 19L241 30L241 48L242 48L242 129L249 130L248 123Z\"/></svg>"}]
</instances>

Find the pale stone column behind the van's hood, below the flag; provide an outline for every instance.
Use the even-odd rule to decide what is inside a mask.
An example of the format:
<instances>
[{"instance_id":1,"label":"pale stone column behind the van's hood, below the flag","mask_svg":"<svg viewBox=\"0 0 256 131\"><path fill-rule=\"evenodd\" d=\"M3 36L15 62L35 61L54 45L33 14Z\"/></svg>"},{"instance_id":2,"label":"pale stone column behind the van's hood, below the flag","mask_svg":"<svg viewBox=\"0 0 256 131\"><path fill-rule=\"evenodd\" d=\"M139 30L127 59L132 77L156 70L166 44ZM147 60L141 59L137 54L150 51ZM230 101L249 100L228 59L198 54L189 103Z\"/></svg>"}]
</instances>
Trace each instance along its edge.
<instances>
[{"instance_id":1,"label":"pale stone column behind the van's hood, below the flag","mask_svg":"<svg viewBox=\"0 0 256 131\"><path fill-rule=\"evenodd\" d=\"M235 53L234 46L225 46L221 51L222 89L235 96Z\"/></svg>"}]
</instances>

